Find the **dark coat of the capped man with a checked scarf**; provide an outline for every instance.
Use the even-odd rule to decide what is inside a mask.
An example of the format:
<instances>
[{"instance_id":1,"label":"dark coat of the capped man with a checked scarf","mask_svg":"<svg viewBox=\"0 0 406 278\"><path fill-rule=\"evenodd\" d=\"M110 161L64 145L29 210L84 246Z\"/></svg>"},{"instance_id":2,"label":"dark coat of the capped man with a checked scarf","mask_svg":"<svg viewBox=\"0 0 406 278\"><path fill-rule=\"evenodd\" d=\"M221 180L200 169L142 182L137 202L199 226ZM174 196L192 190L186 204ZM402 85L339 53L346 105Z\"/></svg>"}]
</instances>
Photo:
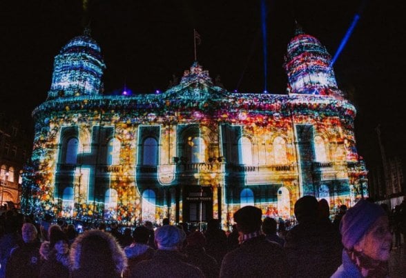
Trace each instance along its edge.
<instances>
[{"instance_id":1,"label":"dark coat of the capped man with a checked scarf","mask_svg":"<svg viewBox=\"0 0 406 278\"><path fill-rule=\"evenodd\" d=\"M227 253L220 277L289 277L289 264L279 244L254 237Z\"/></svg>"}]
</instances>

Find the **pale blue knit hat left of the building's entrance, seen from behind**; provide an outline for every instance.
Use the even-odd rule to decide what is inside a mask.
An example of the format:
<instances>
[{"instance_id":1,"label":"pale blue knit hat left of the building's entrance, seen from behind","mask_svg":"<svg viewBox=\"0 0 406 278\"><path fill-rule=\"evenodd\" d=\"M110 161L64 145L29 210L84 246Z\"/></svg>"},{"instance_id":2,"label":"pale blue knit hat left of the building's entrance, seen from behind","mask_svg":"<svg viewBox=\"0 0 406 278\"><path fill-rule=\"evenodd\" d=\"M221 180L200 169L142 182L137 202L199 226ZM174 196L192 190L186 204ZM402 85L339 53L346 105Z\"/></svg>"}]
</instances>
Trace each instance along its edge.
<instances>
[{"instance_id":1,"label":"pale blue knit hat left of the building's entrance, seen from behind","mask_svg":"<svg viewBox=\"0 0 406 278\"><path fill-rule=\"evenodd\" d=\"M164 225L155 230L155 241L158 249L173 250L184 241L186 235L183 230L171 225Z\"/></svg>"}]
</instances>

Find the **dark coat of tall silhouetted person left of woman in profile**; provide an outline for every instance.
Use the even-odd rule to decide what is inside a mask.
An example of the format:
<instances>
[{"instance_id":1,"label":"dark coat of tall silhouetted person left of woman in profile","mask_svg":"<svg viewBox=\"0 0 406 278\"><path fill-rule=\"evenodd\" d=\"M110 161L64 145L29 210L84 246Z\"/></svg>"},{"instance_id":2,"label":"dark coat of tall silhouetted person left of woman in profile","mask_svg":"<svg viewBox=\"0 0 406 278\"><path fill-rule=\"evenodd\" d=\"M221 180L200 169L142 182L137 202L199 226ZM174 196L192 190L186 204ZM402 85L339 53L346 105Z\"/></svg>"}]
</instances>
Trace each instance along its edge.
<instances>
[{"instance_id":1,"label":"dark coat of tall silhouetted person left of woman in profile","mask_svg":"<svg viewBox=\"0 0 406 278\"><path fill-rule=\"evenodd\" d=\"M304 219L287 233L293 277L331 277L341 264L340 235L329 221Z\"/></svg>"}]
</instances>

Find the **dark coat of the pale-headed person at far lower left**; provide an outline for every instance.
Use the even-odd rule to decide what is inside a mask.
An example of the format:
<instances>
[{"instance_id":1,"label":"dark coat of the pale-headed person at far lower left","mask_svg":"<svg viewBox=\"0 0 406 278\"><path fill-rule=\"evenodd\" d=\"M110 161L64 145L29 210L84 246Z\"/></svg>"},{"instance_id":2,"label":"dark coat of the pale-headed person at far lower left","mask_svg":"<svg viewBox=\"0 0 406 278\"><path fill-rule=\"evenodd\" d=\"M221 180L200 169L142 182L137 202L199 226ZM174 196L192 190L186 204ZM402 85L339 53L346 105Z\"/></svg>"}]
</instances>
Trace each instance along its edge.
<instances>
[{"instance_id":1,"label":"dark coat of the pale-headed person at far lower left","mask_svg":"<svg viewBox=\"0 0 406 278\"><path fill-rule=\"evenodd\" d=\"M21 244L11 251L6 265L6 277L39 277L40 270L39 243Z\"/></svg>"}]
</instances>

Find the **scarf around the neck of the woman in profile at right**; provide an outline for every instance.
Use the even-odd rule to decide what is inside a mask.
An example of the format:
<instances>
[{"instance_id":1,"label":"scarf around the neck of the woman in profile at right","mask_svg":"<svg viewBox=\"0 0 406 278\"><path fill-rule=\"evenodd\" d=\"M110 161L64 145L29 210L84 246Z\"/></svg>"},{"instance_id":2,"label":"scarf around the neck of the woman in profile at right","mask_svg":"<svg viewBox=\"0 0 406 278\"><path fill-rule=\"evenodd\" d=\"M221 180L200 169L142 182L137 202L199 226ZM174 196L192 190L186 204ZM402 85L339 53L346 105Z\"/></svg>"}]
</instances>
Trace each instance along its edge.
<instances>
[{"instance_id":1,"label":"scarf around the neck of the woman in profile at right","mask_svg":"<svg viewBox=\"0 0 406 278\"><path fill-rule=\"evenodd\" d=\"M368 257L363 252L356 250L346 250L349 259L357 266L361 273L363 270L367 270L367 277L388 277L389 265L387 261L378 261Z\"/></svg>"}]
</instances>

